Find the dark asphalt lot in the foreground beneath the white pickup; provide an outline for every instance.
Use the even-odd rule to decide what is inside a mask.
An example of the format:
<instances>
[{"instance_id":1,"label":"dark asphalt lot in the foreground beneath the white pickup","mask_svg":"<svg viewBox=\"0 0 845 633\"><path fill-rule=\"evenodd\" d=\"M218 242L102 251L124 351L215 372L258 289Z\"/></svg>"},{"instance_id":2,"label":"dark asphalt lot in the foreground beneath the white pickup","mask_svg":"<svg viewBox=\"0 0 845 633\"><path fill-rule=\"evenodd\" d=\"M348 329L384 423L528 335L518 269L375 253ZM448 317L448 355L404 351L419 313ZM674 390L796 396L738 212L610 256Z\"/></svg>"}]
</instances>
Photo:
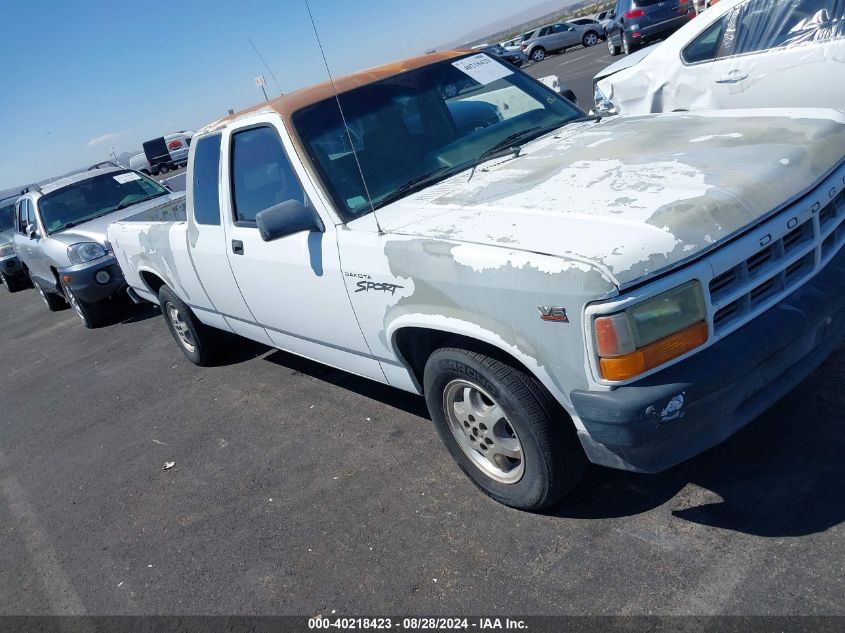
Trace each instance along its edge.
<instances>
[{"instance_id":1,"label":"dark asphalt lot in the foreground beneath the white pickup","mask_svg":"<svg viewBox=\"0 0 845 633\"><path fill-rule=\"evenodd\" d=\"M708 453L527 514L422 399L247 341L198 368L124 310L0 289L0 614L845 612L845 349Z\"/></svg>"}]
</instances>

